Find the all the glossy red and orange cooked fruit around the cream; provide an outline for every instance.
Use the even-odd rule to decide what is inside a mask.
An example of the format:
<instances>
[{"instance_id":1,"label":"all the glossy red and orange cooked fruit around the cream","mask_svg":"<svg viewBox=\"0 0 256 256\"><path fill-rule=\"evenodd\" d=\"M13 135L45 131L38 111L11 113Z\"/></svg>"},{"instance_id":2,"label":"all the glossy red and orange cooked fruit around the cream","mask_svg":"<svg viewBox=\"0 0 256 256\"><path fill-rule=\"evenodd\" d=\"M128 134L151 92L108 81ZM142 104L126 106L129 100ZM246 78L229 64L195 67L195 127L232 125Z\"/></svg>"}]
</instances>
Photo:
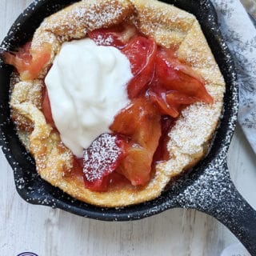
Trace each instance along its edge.
<instances>
[{"instance_id":1,"label":"all the glossy red and orange cooked fruit around the cream","mask_svg":"<svg viewBox=\"0 0 256 256\"><path fill-rule=\"evenodd\" d=\"M127 85L130 105L114 118L110 130L84 150L74 173L83 170L86 188L106 191L109 186L144 186L159 161L170 158L168 134L182 108L194 102L213 103L203 79L175 56L175 50L158 47L134 26L120 25L90 31L88 36L99 46L114 46L130 61L134 77ZM5 53L6 63L14 65L22 78L35 78L50 58L50 48L30 53L30 44L18 53ZM47 90L42 111L54 127Z\"/></svg>"}]
</instances>

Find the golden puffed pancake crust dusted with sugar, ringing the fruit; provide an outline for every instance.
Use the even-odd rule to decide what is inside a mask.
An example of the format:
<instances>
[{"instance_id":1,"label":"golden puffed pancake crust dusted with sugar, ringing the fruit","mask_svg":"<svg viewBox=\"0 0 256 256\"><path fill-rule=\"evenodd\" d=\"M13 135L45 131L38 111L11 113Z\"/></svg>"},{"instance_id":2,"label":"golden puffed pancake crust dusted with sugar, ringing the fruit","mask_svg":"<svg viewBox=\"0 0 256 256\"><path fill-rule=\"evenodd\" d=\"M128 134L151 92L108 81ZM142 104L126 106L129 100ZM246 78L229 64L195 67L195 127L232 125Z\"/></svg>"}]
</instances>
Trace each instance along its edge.
<instances>
[{"instance_id":1,"label":"golden puffed pancake crust dusted with sugar, ringing the fruit","mask_svg":"<svg viewBox=\"0 0 256 256\"><path fill-rule=\"evenodd\" d=\"M110 187L107 192L86 189L82 178L66 175L73 166L73 154L42 114L42 78L46 75L62 42L85 38L87 31L133 22L159 46L175 47L181 62L200 74L213 104L194 103L182 110L170 130L167 145L170 159L158 163L156 172L144 187ZM87 0L76 2L46 18L34 33L31 52L48 43L50 61L38 78L14 85L10 106L20 138L34 156L38 174L53 186L95 206L118 207L157 198L170 179L194 166L206 154L210 138L222 112L225 82L194 15L155 0ZM28 125L29 124L29 125Z\"/></svg>"}]
</instances>

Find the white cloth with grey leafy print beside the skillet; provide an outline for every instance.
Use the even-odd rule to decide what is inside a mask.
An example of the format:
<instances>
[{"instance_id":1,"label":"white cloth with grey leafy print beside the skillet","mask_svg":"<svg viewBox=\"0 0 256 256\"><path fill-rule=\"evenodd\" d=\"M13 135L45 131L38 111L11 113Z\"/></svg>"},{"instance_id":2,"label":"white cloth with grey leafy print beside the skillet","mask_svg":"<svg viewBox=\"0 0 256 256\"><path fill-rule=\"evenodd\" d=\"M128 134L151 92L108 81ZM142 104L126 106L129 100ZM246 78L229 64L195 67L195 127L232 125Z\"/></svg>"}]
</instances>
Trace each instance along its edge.
<instances>
[{"instance_id":1,"label":"white cloth with grey leafy print beside the skillet","mask_svg":"<svg viewBox=\"0 0 256 256\"><path fill-rule=\"evenodd\" d=\"M238 72L238 122L256 154L256 29L239 0L212 2Z\"/></svg>"}]
</instances>

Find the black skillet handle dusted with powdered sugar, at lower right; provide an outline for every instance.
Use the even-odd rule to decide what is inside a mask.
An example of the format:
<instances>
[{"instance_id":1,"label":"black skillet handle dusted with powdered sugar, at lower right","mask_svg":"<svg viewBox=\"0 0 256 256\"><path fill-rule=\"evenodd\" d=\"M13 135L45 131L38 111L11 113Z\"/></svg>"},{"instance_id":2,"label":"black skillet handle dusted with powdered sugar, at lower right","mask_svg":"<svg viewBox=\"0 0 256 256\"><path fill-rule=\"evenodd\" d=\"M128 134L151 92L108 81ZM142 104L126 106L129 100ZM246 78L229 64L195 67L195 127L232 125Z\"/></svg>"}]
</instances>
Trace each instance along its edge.
<instances>
[{"instance_id":1,"label":"black skillet handle dusted with powdered sugar, at lower right","mask_svg":"<svg viewBox=\"0 0 256 256\"><path fill-rule=\"evenodd\" d=\"M212 197L215 197L215 207L201 205L196 207L206 214L210 214L222 222L246 247L252 256L256 255L256 211L246 202L235 188L230 179L226 160L222 163L220 172L224 178L219 187L224 192L220 193L218 186L211 187ZM224 177L223 176L223 177ZM206 207L204 207L206 206Z\"/></svg>"}]
</instances>

